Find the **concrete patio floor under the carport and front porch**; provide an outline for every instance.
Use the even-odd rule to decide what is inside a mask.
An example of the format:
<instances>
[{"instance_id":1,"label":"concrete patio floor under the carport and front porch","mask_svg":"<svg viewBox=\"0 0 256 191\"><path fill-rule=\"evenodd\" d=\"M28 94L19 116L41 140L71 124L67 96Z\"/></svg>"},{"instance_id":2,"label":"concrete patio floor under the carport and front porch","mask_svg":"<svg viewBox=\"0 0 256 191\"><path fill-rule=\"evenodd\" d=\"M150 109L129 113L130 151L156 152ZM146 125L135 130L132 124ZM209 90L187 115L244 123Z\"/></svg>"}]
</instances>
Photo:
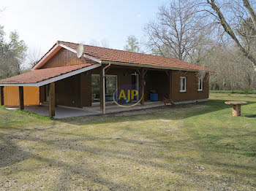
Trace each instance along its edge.
<instances>
[{"instance_id":1,"label":"concrete patio floor under the carport and front porch","mask_svg":"<svg viewBox=\"0 0 256 191\"><path fill-rule=\"evenodd\" d=\"M146 101L144 105L136 105L132 107L121 107L116 104L110 104L106 106L105 112L106 114L117 113L117 112L129 112L141 109L149 109L154 107L164 106L163 101ZM7 108L10 110L18 109L18 108ZM48 116L48 106L25 106L24 111L31 112L35 114L39 114L42 116ZM87 115L97 115L102 114L102 109L97 106L75 108L75 107L66 107L66 106L56 106L55 119L62 119L67 117L79 117L79 116L87 116Z\"/></svg>"}]
</instances>

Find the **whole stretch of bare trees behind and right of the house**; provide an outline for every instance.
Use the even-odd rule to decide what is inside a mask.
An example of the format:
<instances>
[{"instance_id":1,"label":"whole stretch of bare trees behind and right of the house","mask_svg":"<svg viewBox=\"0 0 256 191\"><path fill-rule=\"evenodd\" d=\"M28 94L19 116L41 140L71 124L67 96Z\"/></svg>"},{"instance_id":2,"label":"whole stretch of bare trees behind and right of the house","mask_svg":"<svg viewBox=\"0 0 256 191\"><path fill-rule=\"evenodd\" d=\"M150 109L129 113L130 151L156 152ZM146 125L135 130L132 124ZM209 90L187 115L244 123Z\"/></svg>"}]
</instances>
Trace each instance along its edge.
<instances>
[{"instance_id":1,"label":"whole stretch of bare trees behind and right of the house","mask_svg":"<svg viewBox=\"0 0 256 191\"><path fill-rule=\"evenodd\" d=\"M213 69L212 90L256 90L255 4L248 0L170 1L144 27L146 38L129 36L124 50Z\"/></svg>"}]
</instances>

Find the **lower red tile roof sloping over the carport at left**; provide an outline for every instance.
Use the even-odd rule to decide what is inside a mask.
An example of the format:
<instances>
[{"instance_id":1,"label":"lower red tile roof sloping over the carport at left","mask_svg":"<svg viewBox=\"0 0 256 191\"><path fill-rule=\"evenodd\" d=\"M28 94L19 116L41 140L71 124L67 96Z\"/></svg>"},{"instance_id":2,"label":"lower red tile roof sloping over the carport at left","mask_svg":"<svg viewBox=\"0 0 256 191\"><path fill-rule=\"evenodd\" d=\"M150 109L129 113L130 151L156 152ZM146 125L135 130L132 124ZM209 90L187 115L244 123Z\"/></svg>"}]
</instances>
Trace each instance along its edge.
<instances>
[{"instance_id":1,"label":"lower red tile roof sloping over the carport at left","mask_svg":"<svg viewBox=\"0 0 256 191\"><path fill-rule=\"evenodd\" d=\"M58 77L61 74L66 74L71 71L83 69L91 65L92 65L91 63L85 63L85 64L61 66L61 67L49 68L49 69L36 69L33 71L29 71L25 74L20 74L15 77L2 79L0 80L0 84L23 84L23 83L28 84L28 83L42 82L46 79Z\"/></svg>"}]
</instances>

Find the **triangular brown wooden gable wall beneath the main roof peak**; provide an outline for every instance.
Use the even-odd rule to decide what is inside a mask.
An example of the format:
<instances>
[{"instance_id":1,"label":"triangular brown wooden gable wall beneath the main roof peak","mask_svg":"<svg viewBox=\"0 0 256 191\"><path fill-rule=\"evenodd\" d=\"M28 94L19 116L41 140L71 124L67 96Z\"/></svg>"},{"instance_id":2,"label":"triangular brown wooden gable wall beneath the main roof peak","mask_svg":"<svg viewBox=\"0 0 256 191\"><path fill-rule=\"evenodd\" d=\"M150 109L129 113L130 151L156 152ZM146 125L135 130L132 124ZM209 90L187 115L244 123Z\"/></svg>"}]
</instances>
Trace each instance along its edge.
<instances>
[{"instance_id":1,"label":"triangular brown wooden gable wall beneath the main roof peak","mask_svg":"<svg viewBox=\"0 0 256 191\"><path fill-rule=\"evenodd\" d=\"M59 52L57 52L56 55L53 56L53 58L50 58L50 60L47 61L44 66L42 66L42 69L59 66L70 66L80 63L86 63L83 57L78 58L74 52L61 48L61 50L59 50Z\"/></svg>"}]
</instances>

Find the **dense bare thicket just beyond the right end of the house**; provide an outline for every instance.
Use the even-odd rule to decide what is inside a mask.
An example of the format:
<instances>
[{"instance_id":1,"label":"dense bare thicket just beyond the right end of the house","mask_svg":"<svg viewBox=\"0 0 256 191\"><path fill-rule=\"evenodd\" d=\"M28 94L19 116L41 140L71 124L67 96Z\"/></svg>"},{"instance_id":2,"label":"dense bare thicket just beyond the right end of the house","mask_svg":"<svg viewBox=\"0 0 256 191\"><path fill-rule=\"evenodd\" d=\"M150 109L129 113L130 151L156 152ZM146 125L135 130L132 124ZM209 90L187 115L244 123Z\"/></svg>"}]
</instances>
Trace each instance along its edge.
<instances>
[{"instance_id":1,"label":"dense bare thicket just beyond the right end of the house","mask_svg":"<svg viewBox=\"0 0 256 191\"><path fill-rule=\"evenodd\" d=\"M230 39L231 41L231 39ZM210 77L213 90L255 90L256 77L252 63L244 59L238 47L230 42L219 44L203 59L214 70Z\"/></svg>"}]
</instances>

